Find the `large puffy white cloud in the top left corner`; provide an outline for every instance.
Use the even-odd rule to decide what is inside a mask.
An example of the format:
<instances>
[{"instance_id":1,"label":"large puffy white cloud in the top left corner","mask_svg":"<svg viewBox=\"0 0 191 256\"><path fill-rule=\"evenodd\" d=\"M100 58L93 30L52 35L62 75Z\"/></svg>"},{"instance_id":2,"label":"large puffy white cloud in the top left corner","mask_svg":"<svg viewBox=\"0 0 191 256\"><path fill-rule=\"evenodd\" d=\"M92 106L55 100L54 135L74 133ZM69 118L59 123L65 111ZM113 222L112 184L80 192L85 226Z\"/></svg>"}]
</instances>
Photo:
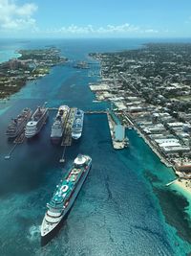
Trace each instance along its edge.
<instances>
[{"instance_id":1,"label":"large puffy white cloud in the top left corner","mask_svg":"<svg viewBox=\"0 0 191 256\"><path fill-rule=\"evenodd\" d=\"M34 29L32 14L36 10L37 6L32 3L18 6L15 1L0 0L0 29L4 32Z\"/></svg>"}]
</instances>

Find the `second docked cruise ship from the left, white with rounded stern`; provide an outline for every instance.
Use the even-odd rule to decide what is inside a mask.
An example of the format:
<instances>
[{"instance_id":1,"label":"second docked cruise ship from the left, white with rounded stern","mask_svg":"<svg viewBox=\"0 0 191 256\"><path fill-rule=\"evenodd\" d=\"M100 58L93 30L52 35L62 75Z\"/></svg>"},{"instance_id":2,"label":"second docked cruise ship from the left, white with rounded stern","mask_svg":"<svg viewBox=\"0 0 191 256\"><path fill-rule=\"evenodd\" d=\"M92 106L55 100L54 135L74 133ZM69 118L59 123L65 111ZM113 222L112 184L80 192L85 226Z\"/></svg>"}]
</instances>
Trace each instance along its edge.
<instances>
[{"instance_id":1,"label":"second docked cruise ship from the left, white with rounded stern","mask_svg":"<svg viewBox=\"0 0 191 256\"><path fill-rule=\"evenodd\" d=\"M47 107L38 106L35 112L32 114L31 120L27 123L25 128L25 136L27 138L32 138L36 135L48 118L49 110Z\"/></svg>"}]
</instances>

